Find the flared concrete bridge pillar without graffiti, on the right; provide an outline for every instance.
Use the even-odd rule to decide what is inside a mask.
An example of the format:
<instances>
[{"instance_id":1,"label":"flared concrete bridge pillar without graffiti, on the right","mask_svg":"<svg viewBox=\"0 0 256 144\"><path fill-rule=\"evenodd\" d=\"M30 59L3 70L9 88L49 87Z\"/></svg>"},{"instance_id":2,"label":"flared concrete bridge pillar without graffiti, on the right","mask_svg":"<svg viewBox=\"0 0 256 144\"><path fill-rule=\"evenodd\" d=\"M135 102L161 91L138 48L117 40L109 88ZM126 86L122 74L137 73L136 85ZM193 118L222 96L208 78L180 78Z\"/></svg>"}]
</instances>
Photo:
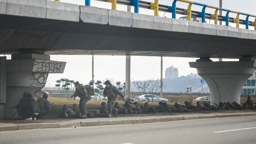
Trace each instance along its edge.
<instances>
[{"instance_id":1,"label":"flared concrete bridge pillar without graffiti, on the right","mask_svg":"<svg viewBox=\"0 0 256 144\"><path fill-rule=\"evenodd\" d=\"M219 62L200 58L196 62L189 62L189 65L196 68L198 75L206 81L211 92L211 102L216 104L220 101L240 103L242 87L256 67L252 58Z\"/></svg>"}]
</instances>

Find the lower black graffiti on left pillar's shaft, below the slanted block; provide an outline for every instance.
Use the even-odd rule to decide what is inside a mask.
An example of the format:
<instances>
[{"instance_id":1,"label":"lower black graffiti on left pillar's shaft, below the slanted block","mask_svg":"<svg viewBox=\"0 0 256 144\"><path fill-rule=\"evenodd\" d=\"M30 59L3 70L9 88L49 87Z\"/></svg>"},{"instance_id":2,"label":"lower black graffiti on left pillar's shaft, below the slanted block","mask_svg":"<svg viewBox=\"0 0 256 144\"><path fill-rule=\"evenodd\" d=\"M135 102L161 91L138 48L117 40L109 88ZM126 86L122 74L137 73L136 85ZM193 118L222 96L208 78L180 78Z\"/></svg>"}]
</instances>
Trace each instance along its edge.
<instances>
[{"instance_id":1,"label":"lower black graffiti on left pillar's shaft, below the slanted block","mask_svg":"<svg viewBox=\"0 0 256 144\"><path fill-rule=\"evenodd\" d=\"M32 75L30 79L32 80L32 83L30 86L36 85L36 86L45 86L46 80L48 77L47 72L32 72Z\"/></svg>"}]
</instances>

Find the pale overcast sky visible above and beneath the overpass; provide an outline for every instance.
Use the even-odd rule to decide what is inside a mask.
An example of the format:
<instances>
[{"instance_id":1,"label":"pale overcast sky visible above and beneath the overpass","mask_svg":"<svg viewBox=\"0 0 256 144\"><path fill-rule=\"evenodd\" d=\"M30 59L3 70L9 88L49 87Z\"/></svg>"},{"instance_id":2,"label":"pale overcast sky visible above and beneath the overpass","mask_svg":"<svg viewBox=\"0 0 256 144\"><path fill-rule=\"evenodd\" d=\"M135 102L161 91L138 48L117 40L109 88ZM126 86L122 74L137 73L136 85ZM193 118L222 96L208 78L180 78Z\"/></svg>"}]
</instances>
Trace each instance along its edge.
<instances>
[{"instance_id":1,"label":"pale overcast sky visible above and beneath the overpass","mask_svg":"<svg viewBox=\"0 0 256 144\"><path fill-rule=\"evenodd\" d=\"M75 3L84 5L84 0L60 0L66 3ZM148 2L154 2L154 0L145 0ZM195 0L198 3L205 3L212 6L219 6L219 0ZM159 4L172 5L172 0L159 0ZM222 7L230 10L241 11L244 13L250 13L256 15L255 11L256 0L222 0ZM111 9L111 3L100 2L91 0L91 6ZM187 9L188 3L177 2L177 8ZM127 11L126 5L117 4L117 10ZM192 5L192 10L201 11L201 6ZM131 8L131 12L134 12L134 8ZM139 9L139 13L154 15L154 10ZM206 13L214 13L214 9L206 8ZM171 13L164 13L159 11L161 17L166 16L171 18ZM222 15L226 15L226 12L222 12ZM177 15L176 18L183 15ZM230 13L229 17L236 17L236 14ZM240 19L245 19L245 16L240 15ZM249 17L250 21L254 21L254 18ZM206 20L209 23L209 19ZM214 23L213 20L210 21ZM222 22L225 25L225 22ZM236 27L235 24L229 23L229 25ZM245 25L240 25L240 28L245 29ZM249 29L254 29L249 26ZM10 56L8 56L10 59ZM188 62L196 61L197 58L178 58L178 57L163 57L163 76L165 69L173 65L178 68L179 76L186 76L189 73L197 73L195 68L190 68ZM87 84L92 79L92 56L91 55L51 55L51 60L65 61L67 62L63 74L49 74L47 82L54 85L55 80L61 78L67 78L72 80L78 80L80 83ZM131 57L131 78L134 80L144 79L160 79L160 57L145 57L145 56L132 56ZM218 61L218 59L212 59ZM233 61L237 59L223 59L223 61ZM116 81L125 81L125 56L94 56L94 79L103 80L105 78L112 78ZM48 84L48 85L49 85Z\"/></svg>"}]
</instances>

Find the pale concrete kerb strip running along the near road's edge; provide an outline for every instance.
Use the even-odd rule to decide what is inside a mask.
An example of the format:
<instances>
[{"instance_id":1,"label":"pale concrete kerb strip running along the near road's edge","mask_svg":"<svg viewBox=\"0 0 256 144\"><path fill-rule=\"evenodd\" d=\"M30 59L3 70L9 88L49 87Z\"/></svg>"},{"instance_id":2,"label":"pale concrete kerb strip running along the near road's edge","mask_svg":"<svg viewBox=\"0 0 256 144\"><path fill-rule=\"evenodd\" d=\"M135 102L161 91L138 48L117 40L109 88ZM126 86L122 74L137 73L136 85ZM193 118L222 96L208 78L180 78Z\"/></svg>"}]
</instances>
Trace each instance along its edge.
<instances>
[{"instance_id":1,"label":"pale concrete kerb strip running along the near road's edge","mask_svg":"<svg viewBox=\"0 0 256 144\"><path fill-rule=\"evenodd\" d=\"M104 126L104 125L117 125L117 124L142 124L142 123L166 122L166 121L175 121L175 120L212 119L212 118L239 117L239 116L256 116L256 112L180 114L180 115L147 116L147 117L76 119L76 120L66 120L61 122L43 122L43 123L28 123L28 124L0 123L0 131L39 129L39 128Z\"/></svg>"}]
</instances>

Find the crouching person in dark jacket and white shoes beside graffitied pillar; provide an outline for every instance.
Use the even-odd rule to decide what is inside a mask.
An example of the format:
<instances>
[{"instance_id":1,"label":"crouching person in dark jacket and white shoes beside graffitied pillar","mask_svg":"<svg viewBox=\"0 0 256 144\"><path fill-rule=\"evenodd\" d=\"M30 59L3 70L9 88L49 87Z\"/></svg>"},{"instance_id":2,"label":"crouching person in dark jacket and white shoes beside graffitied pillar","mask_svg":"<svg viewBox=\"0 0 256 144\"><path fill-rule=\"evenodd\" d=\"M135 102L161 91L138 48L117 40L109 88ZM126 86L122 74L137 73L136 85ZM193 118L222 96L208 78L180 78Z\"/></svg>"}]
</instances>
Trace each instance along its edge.
<instances>
[{"instance_id":1,"label":"crouching person in dark jacket and white shoes beside graffitied pillar","mask_svg":"<svg viewBox=\"0 0 256 144\"><path fill-rule=\"evenodd\" d=\"M36 117L39 115L39 107L37 102L32 95L28 92L23 93L23 98L20 99L17 108L19 107L19 115L23 120L36 120Z\"/></svg>"}]
</instances>

